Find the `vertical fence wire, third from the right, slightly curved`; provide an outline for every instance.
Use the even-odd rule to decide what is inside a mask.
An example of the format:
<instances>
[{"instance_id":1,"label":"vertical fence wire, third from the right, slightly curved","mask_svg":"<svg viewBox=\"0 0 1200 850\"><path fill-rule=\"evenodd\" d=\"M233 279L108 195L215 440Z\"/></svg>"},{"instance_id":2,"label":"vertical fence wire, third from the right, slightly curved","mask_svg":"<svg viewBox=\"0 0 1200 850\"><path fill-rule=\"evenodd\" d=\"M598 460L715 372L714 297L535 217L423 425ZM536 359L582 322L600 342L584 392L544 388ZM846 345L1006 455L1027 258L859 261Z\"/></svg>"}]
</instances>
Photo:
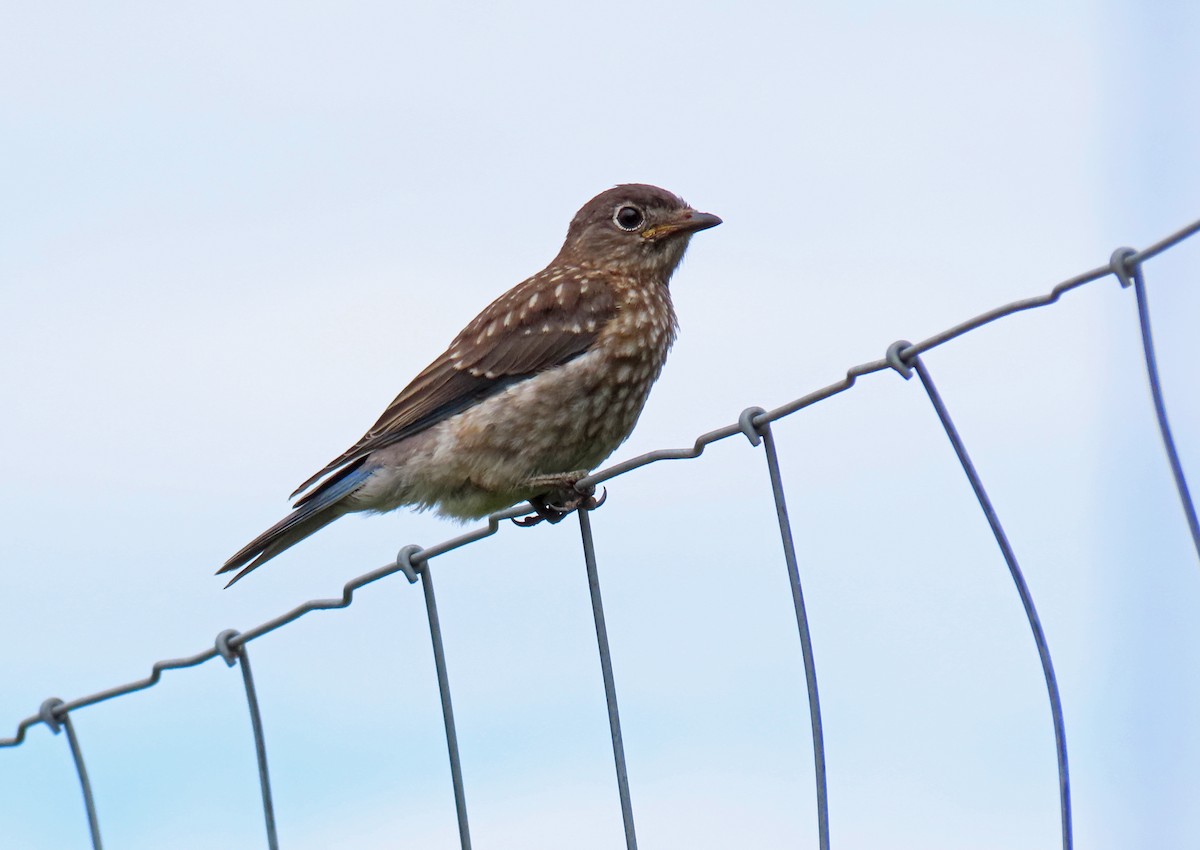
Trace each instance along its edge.
<instances>
[{"instance_id":1,"label":"vertical fence wire, third from the right, slightly curved","mask_svg":"<svg viewBox=\"0 0 1200 850\"><path fill-rule=\"evenodd\" d=\"M749 421L761 408L751 408ZM746 415L743 414L743 419ZM817 795L817 844L821 850L829 850L829 788L826 779L824 729L821 724L821 698L817 693L817 668L812 653L812 633L809 630L809 616L804 607L804 591L800 587L800 570L796 561L796 543L792 539L792 521L787 514L787 499L784 496L784 474L779 468L779 454L775 451L775 436L770 423L754 426L762 437L763 454L767 457L767 471L770 475L770 491L775 498L775 515L779 519L779 537L784 544L784 561L787 563L787 580L792 587L792 605L796 609L796 628L800 634L800 654L804 658L804 684L809 692L809 724L812 728L812 768L816 773ZM752 438L751 438L751 442Z\"/></svg>"}]
</instances>

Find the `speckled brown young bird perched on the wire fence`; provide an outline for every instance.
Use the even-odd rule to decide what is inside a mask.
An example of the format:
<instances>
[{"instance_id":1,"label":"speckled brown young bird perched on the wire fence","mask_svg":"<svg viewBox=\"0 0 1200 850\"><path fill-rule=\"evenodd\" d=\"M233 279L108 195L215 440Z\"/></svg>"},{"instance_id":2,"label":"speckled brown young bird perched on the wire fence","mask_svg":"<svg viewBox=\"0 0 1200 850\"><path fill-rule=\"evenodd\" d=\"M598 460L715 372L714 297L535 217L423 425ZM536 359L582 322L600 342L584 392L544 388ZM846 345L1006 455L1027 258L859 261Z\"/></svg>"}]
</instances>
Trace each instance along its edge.
<instances>
[{"instance_id":1,"label":"speckled brown young bird perched on the wire fence","mask_svg":"<svg viewBox=\"0 0 1200 850\"><path fill-rule=\"evenodd\" d=\"M238 570L226 587L354 511L466 521L529 502L530 520L557 521L594 507L575 484L632 432L678 329L671 276L692 234L720 223L646 184L592 198L545 269L472 319L217 570Z\"/></svg>"}]
</instances>

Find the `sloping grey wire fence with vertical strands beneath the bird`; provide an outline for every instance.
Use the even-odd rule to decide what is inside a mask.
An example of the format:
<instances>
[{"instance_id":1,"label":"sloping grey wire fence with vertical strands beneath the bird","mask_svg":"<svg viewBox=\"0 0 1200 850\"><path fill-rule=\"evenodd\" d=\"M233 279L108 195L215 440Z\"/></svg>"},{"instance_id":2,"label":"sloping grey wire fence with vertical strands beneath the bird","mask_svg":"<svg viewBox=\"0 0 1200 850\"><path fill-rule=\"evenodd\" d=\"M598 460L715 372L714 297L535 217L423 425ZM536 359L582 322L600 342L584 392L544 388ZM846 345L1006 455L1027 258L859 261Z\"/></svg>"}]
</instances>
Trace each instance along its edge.
<instances>
[{"instance_id":1,"label":"sloping grey wire fence with vertical strands beneath the bird","mask_svg":"<svg viewBox=\"0 0 1200 850\"><path fill-rule=\"evenodd\" d=\"M1178 245L1189 237L1200 233L1200 221L1193 222L1188 227L1184 227L1176 233L1154 243L1147 249L1141 251L1135 251L1134 249L1117 249L1112 252L1111 258L1105 265L1097 267L1090 271L1085 271L1080 275L1070 277L1057 286L1055 286L1048 294L1038 295L1034 298L1028 298L1019 301L1013 301L1003 306L990 310L985 313L980 313L961 324L956 324L953 328L948 328L940 334L923 340L917 343L911 343L907 341L898 341L892 343L887 349L887 355L880 360L871 360L869 363L863 363L857 366L851 367L846 372L846 377L841 381L832 383L827 387L822 387L808 395L800 396L793 401L787 402L780 407L770 411L764 411L761 407L746 408L738 417L738 421L725 427L718 429L715 431L709 431L696 438L691 448L683 449L660 449L658 451L650 451L637 457L623 461L614 466L607 467L599 472L588 475L582 479L577 487L581 492L594 492L594 489L607 481L608 479L616 478L617 475L623 475L628 472L637 469L640 467L647 466L649 463L656 463L659 461L667 460L688 460L700 457L704 449L718 441L727 439L730 437L736 437L738 435L745 436L750 443L755 447L762 445L763 455L767 462L768 479L770 483L772 495L774 497L775 510L779 519L779 532L780 540L784 549L784 559L787 568L788 581L792 591L792 601L796 609L796 624L799 631L800 639L800 652L804 662L804 674L805 683L808 687L808 699L809 699L809 711L810 711L810 725L812 730L812 753L814 753L814 771L816 774L816 813L817 813L817 840L821 850L828 850L830 846L829 839L829 810L828 810L828 789L826 783L826 752L824 752L824 738L821 725L821 702L818 699L817 690L817 676L816 676L816 663L812 653L812 641L809 631L808 616L804 607L804 593L800 586L799 567L796 557L796 546L792 539L792 527L791 520L787 513L787 502L784 493L784 477L779 466L779 456L775 450L775 439L772 433L770 424L784 417L790 417L806 407L810 407L820 401L824 401L834 395L844 393L850 388L854 387L859 377L864 375L870 375L872 372L880 372L888 369L895 370L905 379L911 378L916 375L929 396L930 403L941 423L942 429L946 431L947 437L958 456L959 463L962 466L962 471L966 473L967 479L971 484L971 489L974 491L976 498L979 502L984 516L986 517L988 525L991 528L994 537L996 538L996 544L1003 555L1004 563L1008 565L1009 573L1013 577L1013 582L1016 587L1018 595L1021 600L1021 605L1025 609L1025 615L1028 619L1030 628L1033 634L1034 644L1037 645L1038 658L1042 664L1042 671L1046 683L1046 693L1050 701L1050 716L1051 724L1054 726L1055 734L1055 752L1058 764L1058 803L1060 814L1062 822L1062 846L1064 850L1070 850L1073 848L1073 836L1072 836L1072 807L1070 807L1070 776L1068 770L1067 759L1067 738L1066 728L1063 724L1063 711L1062 701L1058 694L1058 684L1055 678L1054 665L1050 658L1050 650L1045 640L1045 634L1042 629L1042 623L1038 618L1037 609L1033 604L1033 597L1030 593L1025 579L1021 574L1020 565L1016 559L1016 555L1013 550L1012 544L1001 526L1000 517L996 514L995 508L991 504L991 499L988 497L988 492L984 489L983 480L979 473L976 471L974 465L971 462L971 457L967 454L966 445L962 438L959 436L958 430L954 426L954 421L950 418L949 411L946 407L941 394L934 383L932 376L929 372L929 367L920 359L920 355L937 346L941 346L950 340L954 340L964 334L971 333L985 324L995 322L997 319L1012 316L1013 313L1022 312L1025 310L1032 310L1034 307L1044 307L1058 301L1058 299L1067 292L1081 287L1086 283L1092 283L1106 277L1116 277L1122 287L1132 287L1136 297L1138 306L1138 322L1141 331L1142 351L1145 355L1146 372L1148 377L1151 396L1154 405L1154 413L1158 420L1159 435L1163 442L1163 447L1166 451L1168 462L1171 467L1171 473L1174 475L1175 485L1178 491L1180 503L1183 508L1183 513L1188 523L1188 528L1192 533L1192 541L1196 550L1196 556L1200 558L1200 522L1196 520L1195 504L1192 501L1190 492L1188 490L1187 479L1184 478L1183 467L1180 463L1178 454L1175 449L1175 441L1171 436L1170 425L1166 418L1166 406L1163 399L1162 382L1158 376L1158 366L1154 357L1154 345L1153 337L1151 336L1150 328L1150 306L1146 294L1146 281L1142 267L1146 261L1158 256L1163 251L1166 251L1175 245ZM438 619L437 600L433 592L433 575L430 567L430 562L440 556L445 555L456 549L467 546L476 540L490 537L494 534L500 526L503 520L517 519L526 514L527 509L523 507L510 508L496 513L487 517L487 523L475 528L470 532L461 534L458 537L450 538L437 545L421 547L421 546L406 546L396 556L396 559L389 564L379 567L378 569L365 573L350 581L348 581L342 588L342 595L338 599L313 599L298 605L290 611L280 615L272 619L260 623L245 631L236 631L229 629L222 631L217 635L216 641L212 647L198 652L194 656L187 658L174 658L168 660L156 662L151 669L150 675L145 678L138 680L136 682L130 682L127 684L116 686L108 688L106 690L97 692L95 694L88 694L85 696L79 696L74 700L62 701L60 699L48 699L46 700L38 712L32 714L19 724L17 724L17 734L11 738L0 738L0 747L17 747L25 740L25 734L28 730L40 723L44 723L54 734L60 731L66 732L67 743L71 749L71 755L74 761L76 772L79 778L79 785L83 792L84 808L86 812L88 825L91 833L92 848L100 850L102 848L101 832L100 832L100 818L96 812L96 804L91 791L91 783L88 778L88 771L84 765L83 750L79 744L79 738L76 735L74 726L71 722L71 716L74 711L79 708L85 708L88 706L96 705L97 702L104 702L107 700L116 699L119 696L126 696L128 694L144 690L158 683L162 678L162 674L166 670L180 670L184 668L193 668L205 662L210 662L215 658L221 658L229 666L238 665L241 670L242 683L246 693L246 702L250 710L251 728L254 738L254 750L258 761L258 774L259 785L263 796L263 820L265 825L266 844L271 850L277 850L278 834L275 824L275 812L271 801L271 783L270 774L268 772L268 759L266 759L266 743L263 735L263 718L259 711L258 696L254 689L254 678L251 672L250 656L247 652L247 645L266 634L280 629L295 619L311 613L313 611L326 611L332 609L347 607L354 600L354 593L360 588L379 581L380 579L395 575L396 573L402 573L410 582L421 583L421 589L425 594L425 606L428 617L430 625L430 638L433 646L433 659L437 670L438 690L442 702L443 719L445 723L445 737L446 737L446 749L450 759L450 773L452 780L452 792L455 798L455 809L457 813L458 821L458 837L463 850L469 850L470 848L470 827L467 816L467 798L466 790L463 788L462 780L462 766L461 758L458 753L458 741L455 728L454 708L450 700L450 678L446 670L445 652L442 644L442 627ZM578 511L580 533L581 533L581 545L583 552L584 564L587 567L588 574L588 587L592 595L592 611L595 619L596 630L596 644L600 654L600 670L604 678L605 699L608 710L608 724L610 732L612 737L612 750L613 750L613 762L617 773L617 790L618 800L620 804L622 820L624 824L625 844L629 850L635 850L637 846L637 838L634 827L634 810L632 801L629 792L629 780L625 771L625 752L624 743L620 732L620 714L617 706L617 690L616 690L616 678L612 669L612 657L608 650L608 635L607 628L605 625L604 617L604 603L600 593L600 577L599 568L595 557L595 545L592 534L592 522L588 511Z\"/></svg>"}]
</instances>

